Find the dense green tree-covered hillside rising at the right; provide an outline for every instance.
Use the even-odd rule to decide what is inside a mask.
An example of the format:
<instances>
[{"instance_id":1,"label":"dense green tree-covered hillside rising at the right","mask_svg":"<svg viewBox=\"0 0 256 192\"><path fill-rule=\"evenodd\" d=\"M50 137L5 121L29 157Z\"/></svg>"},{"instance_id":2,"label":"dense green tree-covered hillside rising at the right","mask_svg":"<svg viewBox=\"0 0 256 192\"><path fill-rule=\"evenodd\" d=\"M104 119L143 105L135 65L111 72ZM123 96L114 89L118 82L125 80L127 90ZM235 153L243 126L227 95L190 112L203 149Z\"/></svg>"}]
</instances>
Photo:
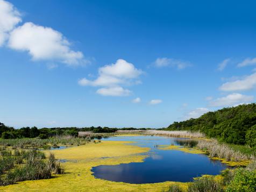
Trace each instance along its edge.
<instances>
[{"instance_id":1,"label":"dense green tree-covered hillside rising at the right","mask_svg":"<svg viewBox=\"0 0 256 192\"><path fill-rule=\"evenodd\" d=\"M243 104L208 112L199 118L174 122L165 130L200 131L230 144L256 147L256 104Z\"/></svg>"}]
</instances>

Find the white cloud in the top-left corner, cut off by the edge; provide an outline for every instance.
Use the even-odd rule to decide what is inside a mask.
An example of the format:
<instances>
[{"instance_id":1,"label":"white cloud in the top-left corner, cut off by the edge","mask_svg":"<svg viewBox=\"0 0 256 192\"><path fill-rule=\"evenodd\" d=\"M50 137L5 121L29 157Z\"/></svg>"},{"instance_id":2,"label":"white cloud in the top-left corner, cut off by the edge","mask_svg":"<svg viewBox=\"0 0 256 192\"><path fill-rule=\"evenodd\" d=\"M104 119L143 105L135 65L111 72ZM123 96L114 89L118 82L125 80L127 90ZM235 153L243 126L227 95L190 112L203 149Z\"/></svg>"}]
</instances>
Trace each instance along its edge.
<instances>
[{"instance_id":1,"label":"white cloud in the top-left corner, cut off by the edge","mask_svg":"<svg viewBox=\"0 0 256 192\"><path fill-rule=\"evenodd\" d=\"M21 21L16 8L11 3L0 0L0 46L8 38L9 32Z\"/></svg>"}]
</instances>

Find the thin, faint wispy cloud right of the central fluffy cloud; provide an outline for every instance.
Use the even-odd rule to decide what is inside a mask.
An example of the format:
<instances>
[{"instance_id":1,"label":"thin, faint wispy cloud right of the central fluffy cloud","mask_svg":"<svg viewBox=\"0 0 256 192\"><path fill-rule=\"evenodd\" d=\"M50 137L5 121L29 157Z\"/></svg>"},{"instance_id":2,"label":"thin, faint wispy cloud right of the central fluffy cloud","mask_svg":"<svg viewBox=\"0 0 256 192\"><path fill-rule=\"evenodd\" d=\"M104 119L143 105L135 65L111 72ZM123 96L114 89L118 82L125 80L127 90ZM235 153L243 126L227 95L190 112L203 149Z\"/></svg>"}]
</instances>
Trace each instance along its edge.
<instances>
[{"instance_id":1,"label":"thin, faint wispy cloud right of the central fluffy cloud","mask_svg":"<svg viewBox=\"0 0 256 192\"><path fill-rule=\"evenodd\" d=\"M158 58L154 61L155 67L175 67L177 69L184 69L186 67L191 66L190 62L177 60L177 59L171 59L171 58Z\"/></svg>"}]
</instances>

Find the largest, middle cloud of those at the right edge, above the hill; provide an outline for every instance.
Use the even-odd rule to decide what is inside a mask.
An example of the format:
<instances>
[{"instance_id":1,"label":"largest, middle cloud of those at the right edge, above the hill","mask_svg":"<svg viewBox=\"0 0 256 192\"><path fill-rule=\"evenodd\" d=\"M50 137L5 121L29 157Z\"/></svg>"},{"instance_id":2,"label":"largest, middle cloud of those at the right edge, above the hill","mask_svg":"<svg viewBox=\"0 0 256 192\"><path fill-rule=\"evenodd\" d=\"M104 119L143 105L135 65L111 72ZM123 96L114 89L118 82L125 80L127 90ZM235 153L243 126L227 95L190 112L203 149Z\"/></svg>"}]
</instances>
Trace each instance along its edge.
<instances>
[{"instance_id":1,"label":"largest, middle cloud of those at the right edge, above the hill","mask_svg":"<svg viewBox=\"0 0 256 192\"><path fill-rule=\"evenodd\" d=\"M256 86L256 73L245 76L241 80L226 82L219 87L222 91L241 91L253 89Z\"/></svg>"}]
</instances>

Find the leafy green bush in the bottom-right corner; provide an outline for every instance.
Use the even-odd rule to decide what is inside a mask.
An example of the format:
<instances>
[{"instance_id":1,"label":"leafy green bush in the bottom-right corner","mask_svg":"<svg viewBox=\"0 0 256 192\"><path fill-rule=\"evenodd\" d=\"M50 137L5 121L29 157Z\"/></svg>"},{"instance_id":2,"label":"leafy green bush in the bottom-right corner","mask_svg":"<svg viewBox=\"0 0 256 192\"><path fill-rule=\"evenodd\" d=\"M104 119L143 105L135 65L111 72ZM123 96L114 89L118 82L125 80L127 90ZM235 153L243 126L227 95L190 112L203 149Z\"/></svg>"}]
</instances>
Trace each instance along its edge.
<instances>
[{"instance_id":1,"label":"leafy green bush in the bottom-right corner","mask_svg":"<svg viewBox=\"0 0 256 192\"><path fill-rule=\"evenodd\" d=\"M227 192L254 192L256 191L256 171L239 168L234 179L226 188Z\"/></svg>"}]
</instances>

